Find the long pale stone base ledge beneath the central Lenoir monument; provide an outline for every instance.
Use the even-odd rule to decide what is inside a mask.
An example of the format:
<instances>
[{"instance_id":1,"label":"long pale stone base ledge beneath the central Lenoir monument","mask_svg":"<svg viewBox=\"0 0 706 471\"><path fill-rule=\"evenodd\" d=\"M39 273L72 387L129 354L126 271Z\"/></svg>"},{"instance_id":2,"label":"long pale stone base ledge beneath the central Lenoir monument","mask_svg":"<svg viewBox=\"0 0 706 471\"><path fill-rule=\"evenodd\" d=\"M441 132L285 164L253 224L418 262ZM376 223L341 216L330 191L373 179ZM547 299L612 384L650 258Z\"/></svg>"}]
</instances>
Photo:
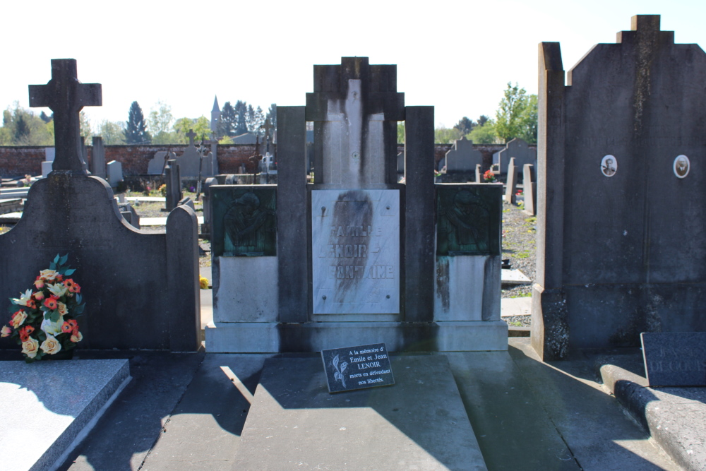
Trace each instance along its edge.
<instances>
[{"instance_id":1,"label":"long pale stone base ledge beneath the central Lenoir monument","mask_svg":"<svg viewBox=\"0 0 706 471\"><path fill-rule=\"evenodd\" d=\"M503 321L215 323L205 337L209 353L319 352L369 343L385 343L391 352L508 350Z\"/></svg>"}]
</instances>

